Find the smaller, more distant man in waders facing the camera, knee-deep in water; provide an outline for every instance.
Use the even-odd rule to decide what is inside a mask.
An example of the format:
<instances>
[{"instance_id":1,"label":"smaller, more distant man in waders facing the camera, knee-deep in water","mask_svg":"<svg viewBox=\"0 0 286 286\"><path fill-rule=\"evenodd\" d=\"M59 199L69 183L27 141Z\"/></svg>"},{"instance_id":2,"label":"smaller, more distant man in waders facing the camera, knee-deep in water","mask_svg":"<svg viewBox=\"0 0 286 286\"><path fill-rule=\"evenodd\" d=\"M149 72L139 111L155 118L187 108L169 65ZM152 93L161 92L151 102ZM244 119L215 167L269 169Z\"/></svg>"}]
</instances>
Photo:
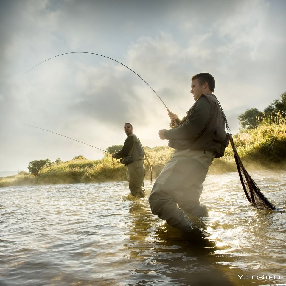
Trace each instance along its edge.
<instances>
[{"instance_id":1,"label":"smaller, more distant man in waders facing the camera, knee-deep in water","mask_svg":"<svg viewBox=\"0 0 286 286\"><path fill-rule=\"evenodd\" d=\"M143 198L145 196L144 150L139 139L133 134L133 127L130 123L125 123L124 131L127 138L122 149L111 156L115 159L122 158L120 162L127 166L126 175L131 194L136 198Z\"/></svg>"}]
</instances>

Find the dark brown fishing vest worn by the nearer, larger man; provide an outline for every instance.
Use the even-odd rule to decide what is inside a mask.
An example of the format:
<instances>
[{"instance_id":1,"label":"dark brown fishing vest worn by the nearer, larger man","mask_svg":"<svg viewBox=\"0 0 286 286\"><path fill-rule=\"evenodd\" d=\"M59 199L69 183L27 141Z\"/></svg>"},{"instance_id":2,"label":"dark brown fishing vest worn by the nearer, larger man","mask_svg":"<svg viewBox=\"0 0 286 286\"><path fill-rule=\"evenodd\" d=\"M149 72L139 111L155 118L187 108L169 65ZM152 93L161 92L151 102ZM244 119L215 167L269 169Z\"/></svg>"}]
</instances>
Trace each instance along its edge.
<instances>
[{"instance_id":1,"label":"dark brown fishing vest worn by the nearer, larger man","mask_svg":"<svg viewBox=\"0 0 286 286\"><path fill-rule=\"evenodd\" d=\"M205 128L195 139L175 139L170 140L169 147L175 149L196 149L215 151L215 158L222 157L224 150L229 144L229 137L226 133L225 119L222 116L219 102L214 94L203 94L210 104L210 113ZM183 124L192 112L192 108L180 122Z\"/></svg>"}]
</instances>

